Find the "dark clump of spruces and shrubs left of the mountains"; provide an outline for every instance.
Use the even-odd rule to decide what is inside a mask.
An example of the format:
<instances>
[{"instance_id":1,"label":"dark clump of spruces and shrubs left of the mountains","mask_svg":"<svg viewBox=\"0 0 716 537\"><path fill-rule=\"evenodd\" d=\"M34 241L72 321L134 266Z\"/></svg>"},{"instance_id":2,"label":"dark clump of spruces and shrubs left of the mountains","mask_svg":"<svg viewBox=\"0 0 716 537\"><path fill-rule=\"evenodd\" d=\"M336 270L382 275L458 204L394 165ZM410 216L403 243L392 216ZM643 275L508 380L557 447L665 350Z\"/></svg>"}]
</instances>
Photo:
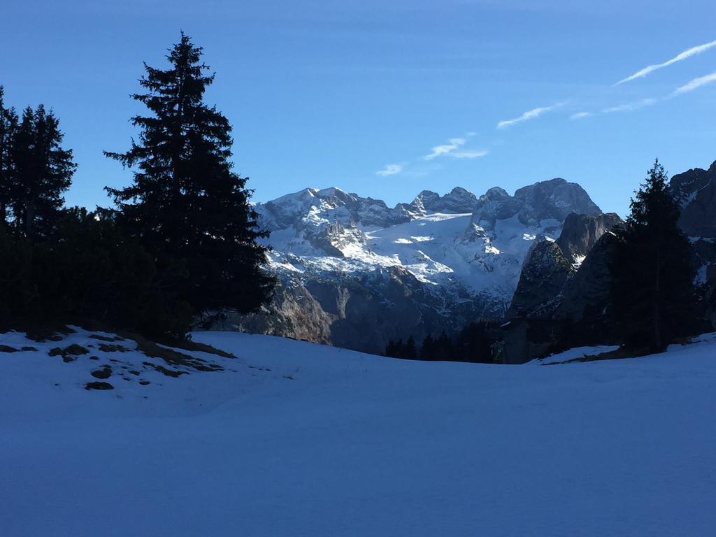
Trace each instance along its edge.
<instances>
[{"instance_id":1,"label":"dark clump of spruces and shrubs left of the mountains","mask_svg":"<svg viewBox=\"0 0 716 537\"><path fill-rule=\"evenodd\" d=\"M269 298L268 233L233 171L231 125L203 100L214 74L202 55L182 33L166 69L145 64L137 140L105 152L132 183L107 188L114 205L96 211L64 207L77 164L54 112L18 114L0 87L0 328L95 322L183 337Z\"/></svg>"}]
</instances>

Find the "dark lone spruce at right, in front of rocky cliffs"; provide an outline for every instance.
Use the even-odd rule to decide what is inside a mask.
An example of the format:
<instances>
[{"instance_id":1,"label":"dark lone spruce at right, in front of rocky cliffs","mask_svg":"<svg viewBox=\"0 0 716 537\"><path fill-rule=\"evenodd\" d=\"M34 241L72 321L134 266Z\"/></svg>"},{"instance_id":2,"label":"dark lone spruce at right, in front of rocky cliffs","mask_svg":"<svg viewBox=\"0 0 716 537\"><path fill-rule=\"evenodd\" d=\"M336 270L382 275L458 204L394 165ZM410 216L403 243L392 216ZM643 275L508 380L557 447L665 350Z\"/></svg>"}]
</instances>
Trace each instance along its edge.
<instances>
[{"instance_id":1,"label":"dark lone spruce at right, in front of rocky cliffs","mask_svg":"<svg viewBox=\"0 0 716 537\"><path fill-rule=\"evenodd\" d=\"M652 352L664 350L696 326L694 254L677 225L679 207L669 193L659 160L617 230L610 263L616 323L624 343Z\"/></svg>"}]
</instances>

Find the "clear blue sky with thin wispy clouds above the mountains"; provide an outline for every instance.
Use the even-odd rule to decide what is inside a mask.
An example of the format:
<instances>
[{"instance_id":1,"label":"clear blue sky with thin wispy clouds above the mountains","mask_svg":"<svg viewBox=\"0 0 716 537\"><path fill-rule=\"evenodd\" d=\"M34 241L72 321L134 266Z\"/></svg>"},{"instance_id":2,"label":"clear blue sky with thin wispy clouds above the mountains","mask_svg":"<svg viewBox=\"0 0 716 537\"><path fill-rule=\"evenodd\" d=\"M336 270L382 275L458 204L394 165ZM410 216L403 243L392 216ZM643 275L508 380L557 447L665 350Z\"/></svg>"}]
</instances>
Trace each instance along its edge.
<instances>
[{"instance_id":1,"label":"clear blue sky with thin wispy clouds above the mountains","mask_svg":"<svg viewBox=\"0 0 716 537\"><path fill-rule=\"evenodd\" d=\"M128 147L142 61L162 67L183 29L257 201L563 177L624 215L654 157L672 173L716 160L716 47L616 82L714 42L715 16L707 0L5 0L0 84L59 116L72 205L130 182L102 150Z\"/></svg>"}]
</instances>

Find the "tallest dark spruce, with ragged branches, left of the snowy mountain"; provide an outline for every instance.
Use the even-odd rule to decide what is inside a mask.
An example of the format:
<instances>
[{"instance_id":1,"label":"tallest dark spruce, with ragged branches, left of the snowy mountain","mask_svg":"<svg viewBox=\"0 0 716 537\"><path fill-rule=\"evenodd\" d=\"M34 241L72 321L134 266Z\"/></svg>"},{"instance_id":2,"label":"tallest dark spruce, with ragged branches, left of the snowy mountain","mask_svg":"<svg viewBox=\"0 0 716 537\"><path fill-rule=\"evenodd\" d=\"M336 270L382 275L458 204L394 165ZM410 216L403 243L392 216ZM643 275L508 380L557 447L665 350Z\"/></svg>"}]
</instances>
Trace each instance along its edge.
<instances>
[{"instance_id":1,"label":"tallest dark spruce, with ragged branches, left of the snowy mountain","mask_svg":"<svg viewBox=\"0 0 716 537\"><path fill-rule=\"evenodd\" d=\"M159 258L185 261L180 292L196 313L247 312L266 301L273 283L261 270L266 248L256 242L267 233L257 227L246 178L232 170L231 126L203 102L214 75L205 74L202 54L182 32L169 69L145 64L146 93L132 95L150 111L132 117L139 140L126 153L105 153L133 168L134 181L107 191L131 236ZM165 262L158 265L163 271Z\"/></svg>"}]
</instances>

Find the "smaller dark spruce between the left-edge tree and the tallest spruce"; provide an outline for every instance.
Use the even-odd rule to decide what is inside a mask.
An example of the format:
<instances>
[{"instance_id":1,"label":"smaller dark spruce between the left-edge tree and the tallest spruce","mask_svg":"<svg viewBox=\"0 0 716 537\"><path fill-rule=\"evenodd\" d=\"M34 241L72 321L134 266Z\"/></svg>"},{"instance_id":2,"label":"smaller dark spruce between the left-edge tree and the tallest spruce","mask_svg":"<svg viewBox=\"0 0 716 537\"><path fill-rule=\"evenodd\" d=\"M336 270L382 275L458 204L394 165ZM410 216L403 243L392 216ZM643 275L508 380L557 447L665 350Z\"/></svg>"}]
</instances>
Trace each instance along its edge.
<instances>
[{"instance_id":1,"label":"smaller dark spruce between the left-edge tree and the tallest spruce","mask_svg":"<svg viewBox=\"0 0 716 537\"><path fill-rule=\"evenodd\" d=\"M77 165L62 148L59 120L43 105L27 107L11 140L14 190L10 204L17 230L29 238L47 236L57 223Z\"/></svg>"}]
</instances>

